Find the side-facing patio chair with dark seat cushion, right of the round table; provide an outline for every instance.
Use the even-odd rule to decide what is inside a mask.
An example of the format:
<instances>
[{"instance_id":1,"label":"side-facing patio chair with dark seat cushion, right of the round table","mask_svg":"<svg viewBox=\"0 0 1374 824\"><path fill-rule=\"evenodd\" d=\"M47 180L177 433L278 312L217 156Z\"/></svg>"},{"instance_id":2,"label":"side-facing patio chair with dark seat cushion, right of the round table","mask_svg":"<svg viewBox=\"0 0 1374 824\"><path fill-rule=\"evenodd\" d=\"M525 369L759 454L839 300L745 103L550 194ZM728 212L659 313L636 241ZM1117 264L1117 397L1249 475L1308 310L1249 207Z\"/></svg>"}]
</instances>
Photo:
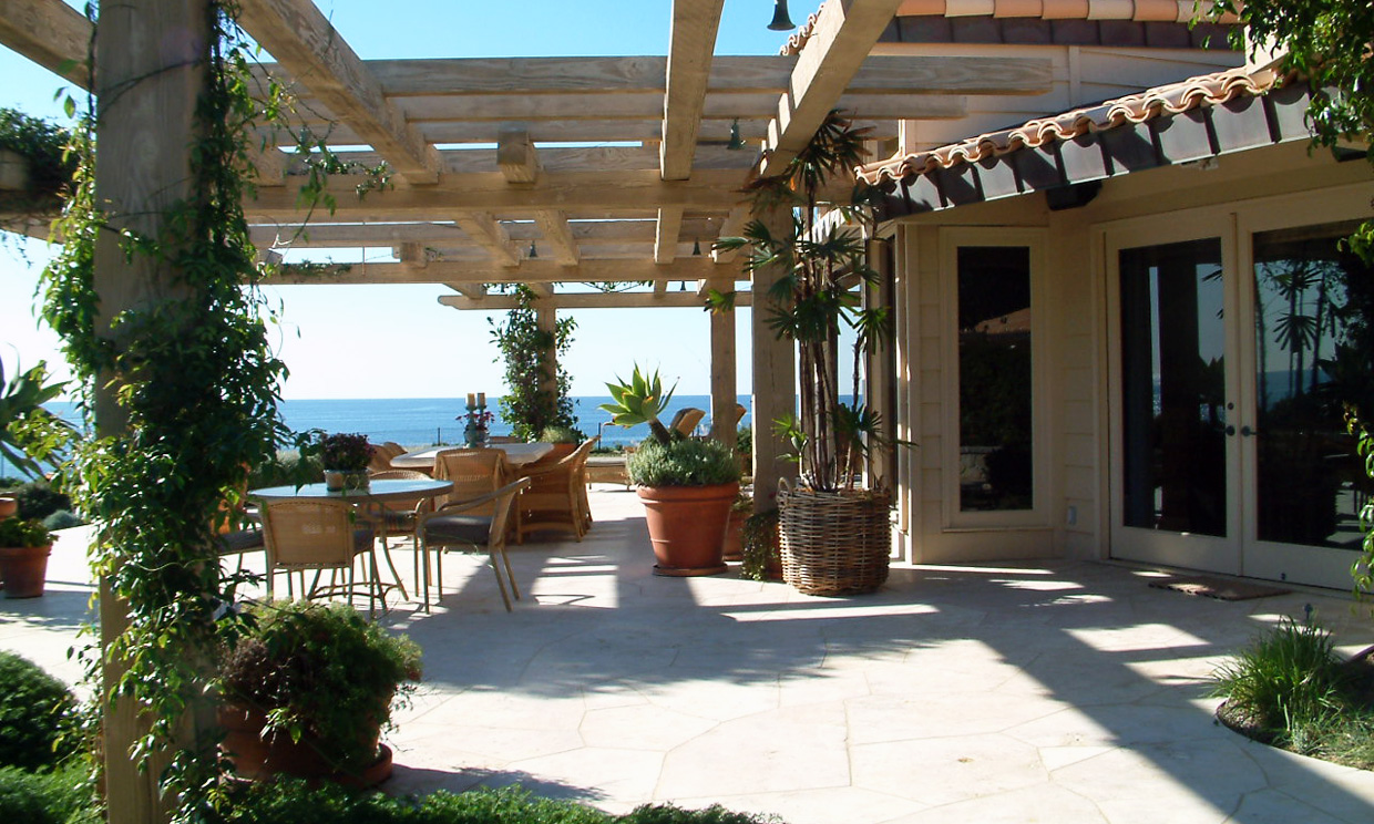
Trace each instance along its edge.
<instances>
[{"instance_id":1,"label":"side-facing patio chair with dark seat cushion, right of the round table","mask_svg":"<svg viewBox=\"0 0 1374 824\"><path fill-rule=\"evenodd\" d=\"M430 608L429 551L438 549L436 558L436 589L438 589L438 599L442 599L445 548L485 549L492 573L496 574L496 586L502 592L502 603L506 604L507 613L511 611L511 596L519 600L519 586L515 584L515 574L511 571L511 562L506 555L506 534L510 526L514 500L528 486L529 479L521 478L475 499L453 501L433 512L418 515L415 547L416 555L425 556L425 575L420 578L420 588L426 613ZM504 578L502 578L502 567L506 567ZM506 591L507 581L510 582L510 593Z\"/></svg>"}]
</instances>

